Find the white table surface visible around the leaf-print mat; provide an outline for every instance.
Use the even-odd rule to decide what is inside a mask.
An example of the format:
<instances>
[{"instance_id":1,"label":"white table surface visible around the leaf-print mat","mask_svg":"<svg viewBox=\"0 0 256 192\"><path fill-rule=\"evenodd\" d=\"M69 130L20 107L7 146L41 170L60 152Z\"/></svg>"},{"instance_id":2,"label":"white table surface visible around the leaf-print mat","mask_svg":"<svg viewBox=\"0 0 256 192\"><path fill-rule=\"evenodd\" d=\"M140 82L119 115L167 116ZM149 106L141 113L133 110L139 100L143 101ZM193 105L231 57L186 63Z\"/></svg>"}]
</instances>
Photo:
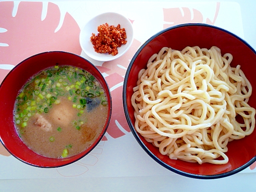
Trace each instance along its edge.
<instances>
[{"instance_id":1,"label":"white table surface visible around the leaf-print mat","mask_svg":"<svg viewBox=\"0 0 256 192\"><path fill-rule=\"evenodd\" d=\"M35 0L34 0L35 1ZM64 1L64 0L62 0ZM54 1L58 2L58 0ZM132 1L135 2L135 1ZM160 3L177 2L177 0L162 0ZM202 1L202 0L186 0L190 3L198 2L227 2L218 1ZM256 1L254 0L232 0L240 5L242 16L242 28L244 40L246 40L254 49L256 49ZM136 142L134 141L136 144ZM145 154L143 154L145 155ZM132 157L131 157L132 160ZM17 160L18 161L18 160ZM20 162L17 162L20 163ZM136 163L136 162L135 162ZM116 170L116 172L125 172L124 170ZM127 170L128 171L128 170ZM135 171L143 171L137 168ZM1 175L0 167L0 175ZM161 170L160 170L161 173ZM113 176L113 177L66 177L66 178L12 178L0 179L0 192L12 191L171 191L171 192L215 192L215 191L256 191L256 172L242 172L226 178L215 180L198 180L180 176L178 174L147 176ZM114 174L113 174L114 175Z\"/></svg>"}]
</instances>

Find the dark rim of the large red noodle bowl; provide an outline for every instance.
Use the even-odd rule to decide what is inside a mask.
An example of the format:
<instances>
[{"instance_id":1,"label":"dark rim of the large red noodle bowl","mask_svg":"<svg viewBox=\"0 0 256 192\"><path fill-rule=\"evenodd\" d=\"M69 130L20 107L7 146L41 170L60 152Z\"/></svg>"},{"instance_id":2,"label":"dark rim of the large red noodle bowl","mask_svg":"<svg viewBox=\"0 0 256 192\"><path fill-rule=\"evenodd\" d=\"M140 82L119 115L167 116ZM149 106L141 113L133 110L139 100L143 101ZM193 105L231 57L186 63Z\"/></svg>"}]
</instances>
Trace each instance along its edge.
<instances>
[{"instance_id":1,"label":"dark rim of the large red noodle bowl","mask_svg":"<svg viewBox=\"0 0 256 192\"><path fill-rule=\"evenodd\" d=\"M123 97L123 106L124 106L124 114L126 117L126 120L128 122L129 128L132 132L132 134L134 135L136 141L140 144L140 146L143 148L143 150L151 157L153 158L153 160L155 160L156 162L158 162L160 165L164 166L165 168L167 168L168 170L175 172L177 174L180 174L182 176L186 176L189 178L196 178L196 179L218 179L218 178L224 178L227 176L231 176L233 174L236 174L242 170L244 170L245 168L249 167L251 164L253 164L254 162L256 162L256 156L254 156L251 160L249 160L246 164L240 166L239 168L236 168L234 170L225 172L225 173L221 173L221 174L214 174L214 175L202 175L202 174L191 174L188 172L184 172L182 170L176 169L168 164L166 164L165 162L162 162L158 157L156 157L144 144L144 142L142 142L142 140L140 139L140 137L138 136L138 133L136 132L134 125L132 124L132 120L130 119L129 113L128 113L128 107L127 107L127 102L126 102L126 91L127 91L127 81L128 81L128 76L130 74L130 70L132 68L132 64L134 63L134 61L136 60L137 56L140 54L141 50L148 44L150 43L154 38L156 38L157 36L160 36L161 34L163 34L164 32L167 32L169 30L173 30L176 28L182 28L182 27L186 27L186 26L202 26L202 27L208 27L208 28L214 28L217 30L221 30L222 32L226 32L228 34L230 34L231 36L234 36L235 38L237 38L238 40L240 40L242 43L244 43L246 46L248 46L248 48L250 48L250 50L252 50L252 52L254 52L254 54L256 54L256 51L254 50L254 48L252 48L252 46L250 46L250 44L248 44L248 42L246 42L244 39L240 38L239 36L237 36L236 34L225 30L223 28L217 27L217 26L213 26L210 24L202 24L202 23L185 23L185 24L177 24L174 26L170 26L168 28L165 28L163 30L161 30L160 32L154 34L153 36L151 36L148 40L146 40L146 42L144 42L144 44L142 44L142 46L140 46L140 48L137 50L137 52L134 54L132 60L130 61L130 64L127 68L125 77L124 77L124 85L123 85L123 93L122 93L122 97Z\"/></svg>"}]
</instances>

